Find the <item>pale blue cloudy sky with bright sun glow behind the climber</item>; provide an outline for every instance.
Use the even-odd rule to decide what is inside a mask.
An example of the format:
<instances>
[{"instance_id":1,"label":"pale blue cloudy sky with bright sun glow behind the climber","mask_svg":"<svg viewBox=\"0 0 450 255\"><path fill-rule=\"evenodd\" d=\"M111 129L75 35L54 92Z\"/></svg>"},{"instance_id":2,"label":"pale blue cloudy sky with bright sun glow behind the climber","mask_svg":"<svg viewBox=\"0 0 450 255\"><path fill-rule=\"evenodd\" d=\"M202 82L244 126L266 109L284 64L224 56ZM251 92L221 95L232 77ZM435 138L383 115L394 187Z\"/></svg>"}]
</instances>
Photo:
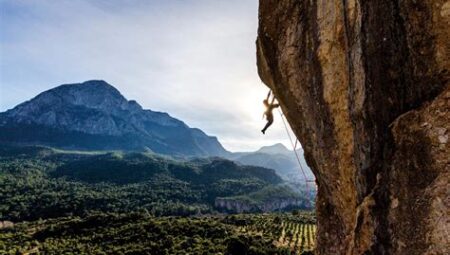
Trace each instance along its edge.
<instances>
[{"instance_id":1,"label":"pale blue cloudy sky with bright sun glow behind the climber","mask_svg":"<svg viewBox=\"0 0 450 255\"><path fill-rule=\"evenodd\" d=\"M258 0L0 0L0 111L101 79L230 151L288 146L280 115L260 132L257 24Z\"/></svg>"}]
</instances>

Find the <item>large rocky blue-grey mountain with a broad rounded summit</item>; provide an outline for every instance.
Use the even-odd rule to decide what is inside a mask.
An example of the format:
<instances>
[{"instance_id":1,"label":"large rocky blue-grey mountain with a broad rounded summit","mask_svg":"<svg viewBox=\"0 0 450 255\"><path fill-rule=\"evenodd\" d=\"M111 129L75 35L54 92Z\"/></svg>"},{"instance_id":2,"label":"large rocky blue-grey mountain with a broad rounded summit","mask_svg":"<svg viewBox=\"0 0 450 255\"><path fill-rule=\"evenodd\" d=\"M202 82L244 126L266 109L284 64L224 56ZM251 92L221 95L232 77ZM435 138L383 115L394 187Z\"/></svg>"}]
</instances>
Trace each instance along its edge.
<instances>
[{"instance_id":1,"label":"large rocky blue-grey mountain with a broad rounded summit","mask_svg":"<svg viewBox=\"0 0 450 255\"><path fill-rule=\"evenodd\" d=\"M143 109L101 80L66 84L0 113L0 142L80 150L224 156L216 137Z\"/></svg>"}]
</instances>

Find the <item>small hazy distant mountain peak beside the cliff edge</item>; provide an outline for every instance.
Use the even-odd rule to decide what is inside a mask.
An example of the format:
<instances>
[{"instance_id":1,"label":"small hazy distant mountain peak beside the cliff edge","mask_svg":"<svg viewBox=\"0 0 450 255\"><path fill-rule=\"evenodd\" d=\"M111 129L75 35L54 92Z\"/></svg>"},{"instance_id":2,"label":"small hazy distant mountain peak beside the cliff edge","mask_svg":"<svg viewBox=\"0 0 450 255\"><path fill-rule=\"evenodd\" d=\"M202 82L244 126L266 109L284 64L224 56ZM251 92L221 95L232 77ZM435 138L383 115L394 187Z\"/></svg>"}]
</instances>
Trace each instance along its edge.
<instances>
[{"instance_id":1,"label":"small hazy distant mountain peak beside the cliff edge","mask_svg":"<svg viewBox=\"0 0 450 255\"><path fill-rule=\"evenodd\" d=\"M297 155L299 156L307 179L314 179L314 175L303 157L303 150L301 148L297 149ZM281 143L264 146L254 152L233 153L229 158L244 165L274 169L285 180L304 182L305 179L294 152Z\"/></svg>"}]
</instances>

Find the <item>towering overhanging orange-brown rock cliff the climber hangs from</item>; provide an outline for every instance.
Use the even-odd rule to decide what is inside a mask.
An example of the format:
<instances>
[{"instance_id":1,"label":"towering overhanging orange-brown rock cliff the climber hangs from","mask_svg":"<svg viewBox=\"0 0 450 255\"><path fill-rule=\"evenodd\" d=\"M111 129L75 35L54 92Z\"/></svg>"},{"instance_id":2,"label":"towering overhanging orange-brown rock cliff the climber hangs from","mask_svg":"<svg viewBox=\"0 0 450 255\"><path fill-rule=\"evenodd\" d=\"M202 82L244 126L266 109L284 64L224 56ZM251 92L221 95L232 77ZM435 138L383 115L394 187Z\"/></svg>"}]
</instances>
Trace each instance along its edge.
<instances>
[{"instance_id":1,"label":"towering overhanging orange-brown rock cliff the climber hangs from","mask_svg":"<svg viewBox=\"0 0 450 255\"><path fill-rule=\"evenodd\" d=\"M317 254L449 254L450 2L260 0L258 71L316 175Z\"/></svg>"}]
</instances>

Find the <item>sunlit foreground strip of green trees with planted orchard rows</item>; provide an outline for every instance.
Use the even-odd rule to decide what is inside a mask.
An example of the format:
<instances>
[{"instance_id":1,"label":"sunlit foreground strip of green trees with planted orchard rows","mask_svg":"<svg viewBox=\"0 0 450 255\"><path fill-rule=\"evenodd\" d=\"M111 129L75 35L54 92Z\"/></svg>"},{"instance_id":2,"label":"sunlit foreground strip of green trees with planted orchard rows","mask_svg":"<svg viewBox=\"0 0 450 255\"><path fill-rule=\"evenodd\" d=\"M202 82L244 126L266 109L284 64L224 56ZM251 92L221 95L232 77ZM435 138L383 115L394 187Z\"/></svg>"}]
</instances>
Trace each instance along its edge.
<instances>
[{"instance_id":1,"label":"sunlit foreground strip of green trees with planted orchard rows","mask_svg":"<svg viewBox=\"0 0 450 255\"><path fill-rule=\"evenodd\" d=\"M19 223L0 229L0 253L306 254L310 213L153 217L145 211Z\"/></svg>"}]
</instances>

